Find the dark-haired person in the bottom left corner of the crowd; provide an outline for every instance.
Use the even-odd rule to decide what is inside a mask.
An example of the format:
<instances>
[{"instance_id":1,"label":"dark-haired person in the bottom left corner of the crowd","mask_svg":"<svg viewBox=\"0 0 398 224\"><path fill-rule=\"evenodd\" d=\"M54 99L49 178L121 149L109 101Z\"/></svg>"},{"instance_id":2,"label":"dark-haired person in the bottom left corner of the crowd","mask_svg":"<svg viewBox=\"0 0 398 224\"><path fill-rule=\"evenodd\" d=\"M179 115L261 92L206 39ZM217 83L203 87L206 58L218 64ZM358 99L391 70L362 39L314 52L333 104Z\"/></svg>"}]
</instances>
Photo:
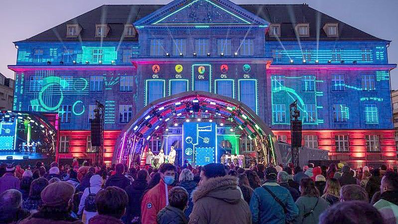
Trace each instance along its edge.
<instances>
[{"instance_id":1,"label":"dark-haired person in the bottom left corner of the crowd","mask_svg":"<svg viewBox=\"0 0 398 224\"><path fill-rule=\"evenodd\" d=\"M0 194L0 223L16 224L29 216L29 212L21 209L22 194L10 189Z\"/></svg>"}]
</instances>

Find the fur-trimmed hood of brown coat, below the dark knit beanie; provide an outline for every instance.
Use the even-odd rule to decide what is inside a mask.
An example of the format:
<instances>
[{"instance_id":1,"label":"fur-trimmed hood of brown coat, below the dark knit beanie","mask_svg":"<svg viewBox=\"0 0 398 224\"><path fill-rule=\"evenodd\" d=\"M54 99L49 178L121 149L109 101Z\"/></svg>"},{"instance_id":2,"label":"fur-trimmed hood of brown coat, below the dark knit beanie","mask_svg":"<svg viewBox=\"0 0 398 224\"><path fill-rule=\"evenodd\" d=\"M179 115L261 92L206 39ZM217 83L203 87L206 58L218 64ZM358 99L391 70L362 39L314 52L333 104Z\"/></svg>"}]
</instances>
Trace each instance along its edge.
<instances>
[{"instance_id":1,"label":"fur-trimmed hood of brown coat, below the dark knit beanie","mask_svg":"<svg viewBox=\"0 0 398 224\"><path fill-rule=\"evenodd\" d=\"M237 204L241 200L241 192L237 189L238 183L237 177L229 175L210 178L204 185L198 186L193 191L193 202L204 197L211 197L230 204Z\"/></svg>"}]
</instances>

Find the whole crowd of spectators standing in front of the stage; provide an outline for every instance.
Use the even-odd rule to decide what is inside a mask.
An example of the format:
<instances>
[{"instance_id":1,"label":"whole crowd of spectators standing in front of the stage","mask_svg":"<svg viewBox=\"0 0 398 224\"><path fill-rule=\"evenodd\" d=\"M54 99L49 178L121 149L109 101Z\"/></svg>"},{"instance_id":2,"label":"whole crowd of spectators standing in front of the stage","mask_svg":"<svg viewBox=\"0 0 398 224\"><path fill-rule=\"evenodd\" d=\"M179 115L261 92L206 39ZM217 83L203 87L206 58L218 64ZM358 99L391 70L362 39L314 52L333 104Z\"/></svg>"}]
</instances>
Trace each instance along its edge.
<instances>
[{"instance_id":1,"label":"whole crowd of spectators standing in front of the stage","mask_svg":"<svg viewBox=\"0 0 398 224\"><path fill-rule=\"evenodd\" d=\"M397 171L0 165L1 224L398 224Z\"/></svg>"}]
</instances>

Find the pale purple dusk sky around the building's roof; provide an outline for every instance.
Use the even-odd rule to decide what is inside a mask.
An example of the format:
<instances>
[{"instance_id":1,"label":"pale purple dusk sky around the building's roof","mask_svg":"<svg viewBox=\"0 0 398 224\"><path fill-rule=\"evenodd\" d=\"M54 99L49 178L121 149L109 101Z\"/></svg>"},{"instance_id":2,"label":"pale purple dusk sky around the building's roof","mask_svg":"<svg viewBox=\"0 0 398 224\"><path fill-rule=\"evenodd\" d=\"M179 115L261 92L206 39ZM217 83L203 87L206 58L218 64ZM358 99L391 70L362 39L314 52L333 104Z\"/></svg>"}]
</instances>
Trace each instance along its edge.
<instances>
[{"instance_id":1,"label":"pale purple dusk sky around the building's roof","mask_svg":"<svg viewBox=\"0 0 398 224\"><path fill-rule=\"evenodd\" d=\"M23 40L103 4L166 4L169 0L3 0L0 3L0 73L14 77L12 41ZM398 0L233 0L234 3L307 3L323 13L382 39L392 40L389 63L398 63ZM322 25L322 24L321 24ZM313 28L312 24L311 28ZM398 89L398 68L391 72L392 89Z\"/></svg>"}]
</instances>

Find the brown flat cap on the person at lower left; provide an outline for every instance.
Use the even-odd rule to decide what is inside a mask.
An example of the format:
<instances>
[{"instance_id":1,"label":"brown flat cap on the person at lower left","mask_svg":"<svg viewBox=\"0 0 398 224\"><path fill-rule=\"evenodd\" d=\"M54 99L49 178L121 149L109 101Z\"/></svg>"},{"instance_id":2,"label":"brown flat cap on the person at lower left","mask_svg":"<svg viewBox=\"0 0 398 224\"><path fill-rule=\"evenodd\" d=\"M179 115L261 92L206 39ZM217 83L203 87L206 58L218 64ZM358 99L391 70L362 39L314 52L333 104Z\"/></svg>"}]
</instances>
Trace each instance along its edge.
<instances>
[{"instance_id":1,"label":"brown flat cap on the person at lower left","mask_svg":"<svg viewBox=\"0 0 398 224\"><path fill-rule=\"evenodd\" d=\"M56 182L48 185L41 192L41 201L44 206L57 207L72 199L75 188L68 182Z\"/></svg>"}]
</instances>

